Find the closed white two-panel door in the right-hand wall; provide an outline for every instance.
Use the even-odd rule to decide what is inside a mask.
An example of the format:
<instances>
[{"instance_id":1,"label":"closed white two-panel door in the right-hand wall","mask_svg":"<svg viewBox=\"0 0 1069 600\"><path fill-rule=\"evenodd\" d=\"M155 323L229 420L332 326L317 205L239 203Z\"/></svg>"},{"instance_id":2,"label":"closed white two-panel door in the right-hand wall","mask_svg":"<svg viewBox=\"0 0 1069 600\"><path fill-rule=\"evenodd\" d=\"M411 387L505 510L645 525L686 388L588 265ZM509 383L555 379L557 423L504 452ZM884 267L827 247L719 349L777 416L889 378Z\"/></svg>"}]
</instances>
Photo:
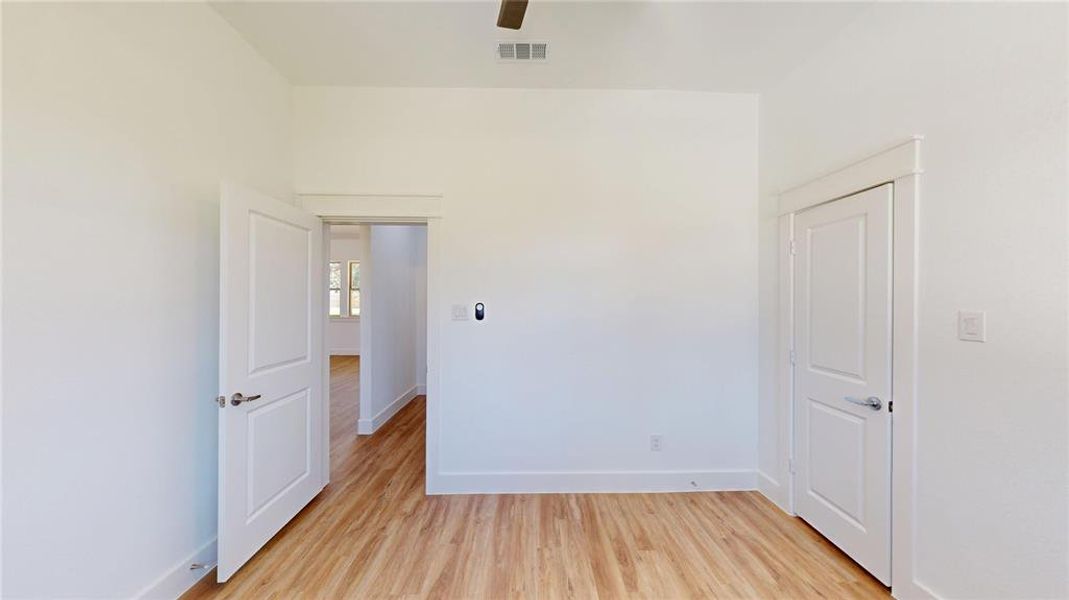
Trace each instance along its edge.
<instances>
[{"instance_id":1,"label":"closed white two-panel door in the right-hand wall","mask_svg":"<svg viewBox=\"0 0 1069 600\"><path fill-rule=\"evenodd\" d=\"M794 506L890 583L892 196L794 217Z\"/></svg>"}]
</instances>

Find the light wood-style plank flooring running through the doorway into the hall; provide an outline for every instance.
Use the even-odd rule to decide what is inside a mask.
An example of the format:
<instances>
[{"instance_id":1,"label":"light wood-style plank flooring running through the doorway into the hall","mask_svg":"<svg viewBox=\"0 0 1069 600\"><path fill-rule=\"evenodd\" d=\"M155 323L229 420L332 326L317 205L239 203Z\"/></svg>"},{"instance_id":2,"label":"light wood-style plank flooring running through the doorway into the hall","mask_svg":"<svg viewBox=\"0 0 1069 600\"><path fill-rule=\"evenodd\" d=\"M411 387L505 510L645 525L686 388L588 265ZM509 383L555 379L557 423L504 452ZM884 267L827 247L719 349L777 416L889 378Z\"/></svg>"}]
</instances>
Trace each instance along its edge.
<instances>
[{"instance_id":1,"label":"light wood-style plank flooring running through the doorway into the hall","mask_svg":"<svg viewBox=\"0 0 1069 600\"><path fill-rule=\"evenodd\" d=\"M203 598L889 598L757 492L427 496L424 399L356 436L330 361L331 483Z\"/></svg>"}]
</instances>

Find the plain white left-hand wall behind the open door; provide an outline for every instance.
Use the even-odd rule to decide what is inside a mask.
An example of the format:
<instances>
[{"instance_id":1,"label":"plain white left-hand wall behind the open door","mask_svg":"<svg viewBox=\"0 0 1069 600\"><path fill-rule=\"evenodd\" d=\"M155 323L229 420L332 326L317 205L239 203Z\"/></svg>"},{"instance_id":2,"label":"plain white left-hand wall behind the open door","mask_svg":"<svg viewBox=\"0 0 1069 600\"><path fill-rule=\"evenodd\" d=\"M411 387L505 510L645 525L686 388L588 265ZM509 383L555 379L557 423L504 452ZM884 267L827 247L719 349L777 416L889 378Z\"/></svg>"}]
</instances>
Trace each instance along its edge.
<instances>
[{"instance_id":1,"label":"plain white left-hand wall behind the open door","mask_svg":"<svg viewBox=\"0 0 1069 600\"><path fill-rule=\"evenodd\" d=\"M174 594L216 533L218 185L291 194L289 86L200 3L3 13L3 595Z\"/></svg>"}]
</instances>

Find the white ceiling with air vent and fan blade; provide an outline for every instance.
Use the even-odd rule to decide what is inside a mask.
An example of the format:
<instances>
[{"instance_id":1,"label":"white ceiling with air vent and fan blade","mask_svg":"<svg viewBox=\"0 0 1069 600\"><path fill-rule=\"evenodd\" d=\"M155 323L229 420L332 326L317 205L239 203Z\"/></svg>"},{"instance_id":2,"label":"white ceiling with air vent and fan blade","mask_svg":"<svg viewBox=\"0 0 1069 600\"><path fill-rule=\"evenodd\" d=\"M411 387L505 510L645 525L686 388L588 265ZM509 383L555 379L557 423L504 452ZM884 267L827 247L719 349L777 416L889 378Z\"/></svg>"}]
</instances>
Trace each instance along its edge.
<instances>
[{"instance_id":1,"label":"white ceiling with air vent and fan blade","mask_svg":"<svg viewBox=\"0 0 1069 600\"><path fill-rule=\"evenodd\" d=\"M867 4L530 0L523 30L497 2L213 2L294 84L761 91ZM545 64L500 63L506 40Z\"/></svg>"}]
</instances>

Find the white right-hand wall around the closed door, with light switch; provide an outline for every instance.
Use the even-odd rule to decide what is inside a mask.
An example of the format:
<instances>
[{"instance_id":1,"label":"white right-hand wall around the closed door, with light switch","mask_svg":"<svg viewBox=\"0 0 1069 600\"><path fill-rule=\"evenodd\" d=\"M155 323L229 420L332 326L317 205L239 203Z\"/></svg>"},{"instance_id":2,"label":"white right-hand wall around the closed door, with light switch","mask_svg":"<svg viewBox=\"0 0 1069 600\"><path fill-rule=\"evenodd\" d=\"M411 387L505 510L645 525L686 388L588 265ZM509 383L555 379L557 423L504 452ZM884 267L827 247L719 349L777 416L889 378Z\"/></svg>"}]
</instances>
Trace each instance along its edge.
<instances>
[{"instance_id":1,"label":"white right-hand wall around the closed door, with light switch","mask_svg":"<svg viewBox=\"0 0 1069 600\"><path fill-rule=\"evenodd\" d=\"M882 5L762 96L762 382L773 194L926 136L914 569L946 598L1069 595L1066 51L1063 4ZM959 309L987 343L957 340ZM774 386L761 403L785 481Z\"/></svg>"}]
</instances>

